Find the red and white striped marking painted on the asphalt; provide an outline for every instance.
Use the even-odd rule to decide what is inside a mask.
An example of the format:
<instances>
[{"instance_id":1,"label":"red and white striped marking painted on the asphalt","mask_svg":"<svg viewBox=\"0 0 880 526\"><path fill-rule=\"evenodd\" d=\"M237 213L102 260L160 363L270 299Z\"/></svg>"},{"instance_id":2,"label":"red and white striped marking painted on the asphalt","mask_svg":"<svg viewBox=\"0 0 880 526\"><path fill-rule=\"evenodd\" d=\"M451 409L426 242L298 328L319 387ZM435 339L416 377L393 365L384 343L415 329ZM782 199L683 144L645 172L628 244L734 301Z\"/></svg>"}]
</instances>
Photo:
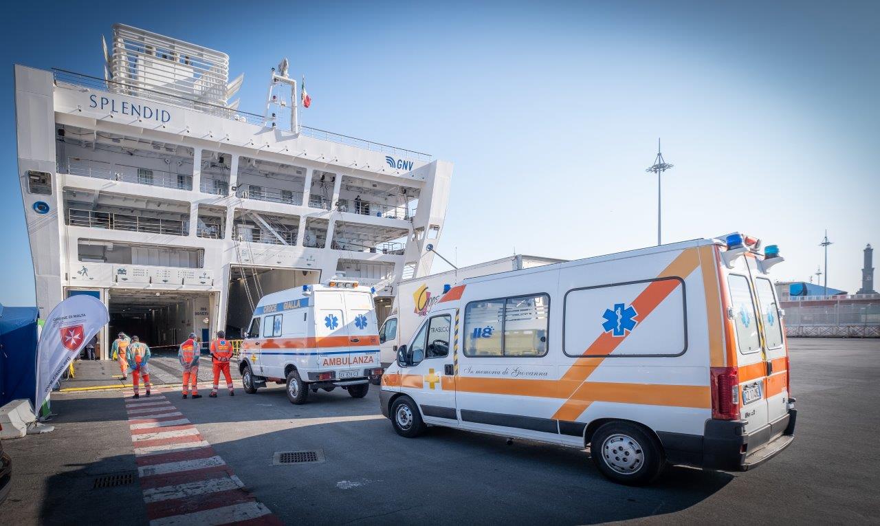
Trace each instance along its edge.
<instances>
[{"instance_id":1,"label":"red and white striped marking painted on the asphalt","mask_svg":"<svg viewBox=\"0 0 880 526\"><path fill-rule=\"evenodd\" d=\"M164 395L125 406L150 526L282 523Z\"/></svg>"}]
</instances>

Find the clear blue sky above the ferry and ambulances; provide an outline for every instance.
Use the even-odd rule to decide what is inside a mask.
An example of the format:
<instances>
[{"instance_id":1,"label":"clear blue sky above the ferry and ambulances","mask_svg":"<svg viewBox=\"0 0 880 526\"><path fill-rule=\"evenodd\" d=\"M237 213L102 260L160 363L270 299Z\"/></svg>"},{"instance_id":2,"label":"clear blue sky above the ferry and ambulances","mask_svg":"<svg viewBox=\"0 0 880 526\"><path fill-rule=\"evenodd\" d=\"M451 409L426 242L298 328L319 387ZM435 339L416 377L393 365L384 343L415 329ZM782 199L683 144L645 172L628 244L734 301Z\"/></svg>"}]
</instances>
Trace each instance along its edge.
<instances>
[{"instance_id":1,"label":"clear blue sky above the ferry and ambulances","mask_svg":"<svg viewBox=\"0 0 880 526\"><path fill-rule=\"evenodd\" d=\"M0 75L0 303L33 304L13 63L102 75L115 22L214 47L261 113L282 56L303 122L455 163L439 248L459 265L577 259L741 230L781 245L781 279L860 286L880 244L880 4L40 3L7 7ZM437 262L435 270L444 270Z\"/></svg>"}]
</instances>

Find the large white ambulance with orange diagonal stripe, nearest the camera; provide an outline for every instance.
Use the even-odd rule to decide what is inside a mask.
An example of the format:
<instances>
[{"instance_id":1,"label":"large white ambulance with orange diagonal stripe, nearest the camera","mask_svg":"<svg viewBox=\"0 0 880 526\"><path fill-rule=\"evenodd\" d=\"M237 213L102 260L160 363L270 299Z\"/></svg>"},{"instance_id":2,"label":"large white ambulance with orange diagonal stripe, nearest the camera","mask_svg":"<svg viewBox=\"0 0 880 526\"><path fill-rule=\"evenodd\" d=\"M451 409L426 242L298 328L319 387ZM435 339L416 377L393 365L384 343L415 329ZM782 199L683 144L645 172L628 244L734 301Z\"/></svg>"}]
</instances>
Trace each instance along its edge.
<instances>
[{"instance_id":1,"label":"large white ambulance with orange diagonal stripe, nearest the camera","mask_svg":"<svg viewBox=\"0 0 880 526\"><path fill-rule=\"evenodd\" d=\"M745 471L793 440L775 245L738 233L465 280L382 377L426 425L590 447L609 479Z\"/></svg>"}]
</instances>

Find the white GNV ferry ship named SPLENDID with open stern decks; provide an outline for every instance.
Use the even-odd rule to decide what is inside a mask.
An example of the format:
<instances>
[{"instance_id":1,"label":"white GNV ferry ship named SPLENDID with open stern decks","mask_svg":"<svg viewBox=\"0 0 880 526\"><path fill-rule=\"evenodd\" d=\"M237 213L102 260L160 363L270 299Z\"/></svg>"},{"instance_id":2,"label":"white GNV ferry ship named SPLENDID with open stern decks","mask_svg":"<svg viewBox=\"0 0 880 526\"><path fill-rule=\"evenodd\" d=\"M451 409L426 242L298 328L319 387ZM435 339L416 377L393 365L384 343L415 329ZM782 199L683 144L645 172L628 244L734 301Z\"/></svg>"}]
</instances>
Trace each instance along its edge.
<instances>
[{"instance_id":1,"label":"white GNV ferry ship named SPLENDID with open stern decks","mask_svg":"<svg viewBox=\"0 0 880 526\"><path fill-rule=\"evenodd\" d=\"M302 126L286 59L260 115L219 51L116 25L104 56L104 78L15 66L37 305L98 297L102 358L118 331L235 336L260 296L333 277L374 287L381 320L429 274L451 163Z\"/></svg>"}]
</instances>

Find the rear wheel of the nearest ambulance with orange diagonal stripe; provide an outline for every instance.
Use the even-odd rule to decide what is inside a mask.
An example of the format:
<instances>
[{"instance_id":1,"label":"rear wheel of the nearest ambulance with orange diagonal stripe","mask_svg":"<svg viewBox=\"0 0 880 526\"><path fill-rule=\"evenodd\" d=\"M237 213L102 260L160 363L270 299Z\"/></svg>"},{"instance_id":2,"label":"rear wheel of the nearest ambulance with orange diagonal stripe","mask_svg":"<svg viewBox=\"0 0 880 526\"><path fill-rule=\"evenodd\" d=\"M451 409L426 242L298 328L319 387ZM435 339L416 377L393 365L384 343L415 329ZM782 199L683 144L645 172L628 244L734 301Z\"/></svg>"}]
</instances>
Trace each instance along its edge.
<instances>
[{"instance_id":1,"label":"rear wheel of the nearest ambulance with orange diagonal stripe","mask_svg":"<svg viewBox=\"0 0 880 526\"><path fill-rule=\"evenodd\" d=\"M649 484L666 464L656 439L629 422L608 422L599 427L590 441L590 452L605 477L627 486Z\"/></svg>"}]
</instances>

